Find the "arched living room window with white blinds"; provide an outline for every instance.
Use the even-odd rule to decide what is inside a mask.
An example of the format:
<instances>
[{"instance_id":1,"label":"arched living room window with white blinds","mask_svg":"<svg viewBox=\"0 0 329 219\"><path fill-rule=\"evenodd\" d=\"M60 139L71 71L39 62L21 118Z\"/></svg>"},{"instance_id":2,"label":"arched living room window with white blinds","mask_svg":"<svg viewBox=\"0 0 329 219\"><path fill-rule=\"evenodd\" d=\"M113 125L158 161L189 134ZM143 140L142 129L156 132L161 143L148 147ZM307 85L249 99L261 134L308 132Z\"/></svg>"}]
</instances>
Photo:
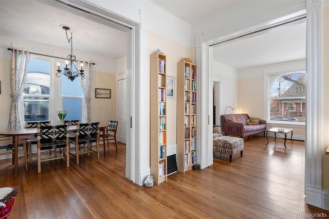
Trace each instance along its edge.
<instances>
[{"instance_id":1,"label":"arched living room window with white blinds","mask_svg":"<svg viewBox=\"0 0 329 219\"><path fill-rule=\"evenodd\" d=\"M270 75L269 120L287 123L304 123L306 109L306 73L289 72Z\"/></svg>"}]
</instances>

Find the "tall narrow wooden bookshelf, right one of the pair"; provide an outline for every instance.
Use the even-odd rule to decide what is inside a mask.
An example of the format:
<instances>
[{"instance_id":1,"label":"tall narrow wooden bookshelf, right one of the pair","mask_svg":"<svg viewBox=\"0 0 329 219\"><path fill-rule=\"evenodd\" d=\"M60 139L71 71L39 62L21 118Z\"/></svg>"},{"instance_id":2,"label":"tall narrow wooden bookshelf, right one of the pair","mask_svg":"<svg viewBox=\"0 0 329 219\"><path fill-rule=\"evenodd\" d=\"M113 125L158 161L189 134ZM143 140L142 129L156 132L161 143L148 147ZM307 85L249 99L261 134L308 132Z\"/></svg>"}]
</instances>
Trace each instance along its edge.
<instances>
[{"instance_id":1,"label":"tall narrow wooden bookshelf, right one of the pair","mask_svg":"<svg viewBox=\"0 0 329 219\"><path fill-rule=\"evenodd\" d=\"M177 63L177 167L186 172L196 164L197 66Z\"/></svg>"}]
</instances>

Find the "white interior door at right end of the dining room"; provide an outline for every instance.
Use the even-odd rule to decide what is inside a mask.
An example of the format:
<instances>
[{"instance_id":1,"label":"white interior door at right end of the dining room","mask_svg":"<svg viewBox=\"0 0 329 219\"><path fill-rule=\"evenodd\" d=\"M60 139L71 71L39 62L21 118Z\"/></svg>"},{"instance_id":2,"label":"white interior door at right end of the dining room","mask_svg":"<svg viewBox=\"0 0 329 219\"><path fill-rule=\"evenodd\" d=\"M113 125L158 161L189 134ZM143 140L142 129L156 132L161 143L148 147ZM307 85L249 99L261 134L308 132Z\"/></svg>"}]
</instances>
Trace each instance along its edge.
<instances>
[{"instance_id":1,"label":"white interior door at right end of the dining room","mask_svg":"<svg viewBox=\"0 0 329 219\"><path fill-rule=\"evenodd\" d=\"M121 143L126 143L126 128L127 128L127 111L126 111L126 84L127 79L121 79L117 83L117 118L118 130L117 140Z\"/></svg>"}]
</instances>

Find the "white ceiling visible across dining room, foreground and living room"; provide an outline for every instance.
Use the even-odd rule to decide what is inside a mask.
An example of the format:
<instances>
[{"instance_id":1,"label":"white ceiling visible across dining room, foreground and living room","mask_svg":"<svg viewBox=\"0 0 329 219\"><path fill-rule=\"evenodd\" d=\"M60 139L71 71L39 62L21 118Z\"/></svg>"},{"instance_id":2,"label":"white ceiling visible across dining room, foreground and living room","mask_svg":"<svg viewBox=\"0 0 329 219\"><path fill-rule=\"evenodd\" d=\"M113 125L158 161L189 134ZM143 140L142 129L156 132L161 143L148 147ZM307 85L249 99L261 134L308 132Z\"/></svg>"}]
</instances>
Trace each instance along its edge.
<instances>
[{"instance_id":1,"label":"white ceiling visible across dining room, foreground and living room","mask_svg":"<svg viewBox=\"0 0 329 219\"><path fill-rule=\"evenodd\" d=\"M152 2L191 25L241 1ZM51 12L51 13L49 13ZM67 13L69 12L69 13ZM12 16L15 15L15 16ZM61 25L72 28L73 50L118 59L125 56L125 30L53 1L1 0L0 33L70 49ZM24 22L22 22L24 21ZM97 21L97 22L95 22ZM214 60L236 69L305 58L305 23L213 46Z\"/></svg>"}]
</instances>

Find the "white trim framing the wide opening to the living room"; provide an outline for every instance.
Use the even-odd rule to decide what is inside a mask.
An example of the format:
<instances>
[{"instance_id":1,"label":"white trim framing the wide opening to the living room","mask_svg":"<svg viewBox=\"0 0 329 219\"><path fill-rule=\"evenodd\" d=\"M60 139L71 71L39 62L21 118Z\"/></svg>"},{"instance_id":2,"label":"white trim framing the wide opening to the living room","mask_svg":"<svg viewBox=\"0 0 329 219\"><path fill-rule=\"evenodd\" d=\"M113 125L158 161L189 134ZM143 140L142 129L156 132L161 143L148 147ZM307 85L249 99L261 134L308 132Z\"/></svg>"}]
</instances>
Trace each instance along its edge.
<instances>
[{"instance_id":1,"label":"white trim framing the wide opening to the living room","mask_svg":"<svg viewBox=\"0 0 329 219\"><path fill-rule=\"evenodd\" d=\"M298 7L297 7L298 8ZM275 12L273 12L275 13ZM271 15L271 14L269 14ZM198 83L202 93L210 94L212 89L212 81L208 80L212 75L209 64L212 65L212 60L209 55L210 46L215 43L220 43L225 40L232 39L236 36L244 35L253 31L268 28L274 25L297 19L306 15L306 72L307 72L307 109L306 109L306 143L305 143L305 195L307 204L328 209L328 204L325 203L325 197L322 198L322 167L321 167L321 147L322 139L318 135L321 128L321 1L306 1L306 10L296 10L296 13L280 17L276 20L268 19L268 22L261 23L250 28L241 27L239 31L223 31L223 33L210 33L207 35L196 34L196 64L199 66L199 74L203 75L204 81ZM266 17L269 18L269 17ZM229 32L229 33L228 33ZM228 34L227 34L228 33ZM222 35L221 35L222 34ZM201 74L200 74L201 73ZM202 96L198 101L199 113L202 120L198 119L200 124L198 145L202 145L202 153L206 153L212 149L211 132L208 119L210 118L209 96ZM211 102L211 101L210 101ZM207 109L208 106L208 109ZM202 108L203 107L203 108ZM202 109L200 111L200 109ZM206 133L208 132L208 133ZM205 149L206 148L206 149ZM208 150L207 150L208 149ZM203 154L202 154L203 155ZM208 159L208 160L204 160ZM206 168L211 163L212 157L200 156L199 162L201 168Z\"/></svg>"}]
</instances>

